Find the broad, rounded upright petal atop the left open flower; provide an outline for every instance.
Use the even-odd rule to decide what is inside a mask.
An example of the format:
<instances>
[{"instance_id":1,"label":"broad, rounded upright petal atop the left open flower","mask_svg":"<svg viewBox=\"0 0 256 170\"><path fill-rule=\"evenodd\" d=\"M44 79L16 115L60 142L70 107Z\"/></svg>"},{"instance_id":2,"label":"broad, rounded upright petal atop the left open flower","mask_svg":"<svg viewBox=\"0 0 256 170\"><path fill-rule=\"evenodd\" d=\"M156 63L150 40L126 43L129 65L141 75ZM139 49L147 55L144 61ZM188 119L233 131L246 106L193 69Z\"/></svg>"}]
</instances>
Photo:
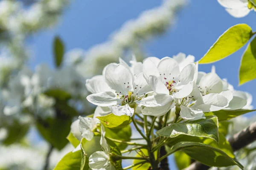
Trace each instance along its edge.
<instances>
[{"instance_id":1,"label":"broad, rounded upright petal atop the left open flower","mask_svg":"<svg viewBox=\"0 0 256 170\"><path fill-rule=\"evenodd\" d=\"M132 90L131 72L123 65L109 64L106 67L105 80L110 88L121 92L121 95L127 95Z\"/></svg>"}]
</instances>

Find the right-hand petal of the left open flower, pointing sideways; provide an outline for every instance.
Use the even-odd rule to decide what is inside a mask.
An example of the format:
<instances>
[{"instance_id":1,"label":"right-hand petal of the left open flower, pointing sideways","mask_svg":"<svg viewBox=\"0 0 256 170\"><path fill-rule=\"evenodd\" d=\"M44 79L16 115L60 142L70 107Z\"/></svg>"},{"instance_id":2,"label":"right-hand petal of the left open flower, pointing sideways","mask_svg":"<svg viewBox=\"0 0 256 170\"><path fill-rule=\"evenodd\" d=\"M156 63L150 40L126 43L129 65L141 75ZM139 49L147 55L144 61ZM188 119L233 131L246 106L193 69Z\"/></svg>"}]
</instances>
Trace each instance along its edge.
<instances>
[{"instance_id":1,"label":"right-hand petal of the left open flower, pointing sideways","mask_svg":"<svg viewBox=\"0 0 256 170\"><path fill-rule=\"evenodd\" d=\"M144 97L143 99L137 101L138 106L146 107L157 107L164 106L172 102L173 97L169 94L156 94L152 96Z\"/></svg>"}]
</instances>

